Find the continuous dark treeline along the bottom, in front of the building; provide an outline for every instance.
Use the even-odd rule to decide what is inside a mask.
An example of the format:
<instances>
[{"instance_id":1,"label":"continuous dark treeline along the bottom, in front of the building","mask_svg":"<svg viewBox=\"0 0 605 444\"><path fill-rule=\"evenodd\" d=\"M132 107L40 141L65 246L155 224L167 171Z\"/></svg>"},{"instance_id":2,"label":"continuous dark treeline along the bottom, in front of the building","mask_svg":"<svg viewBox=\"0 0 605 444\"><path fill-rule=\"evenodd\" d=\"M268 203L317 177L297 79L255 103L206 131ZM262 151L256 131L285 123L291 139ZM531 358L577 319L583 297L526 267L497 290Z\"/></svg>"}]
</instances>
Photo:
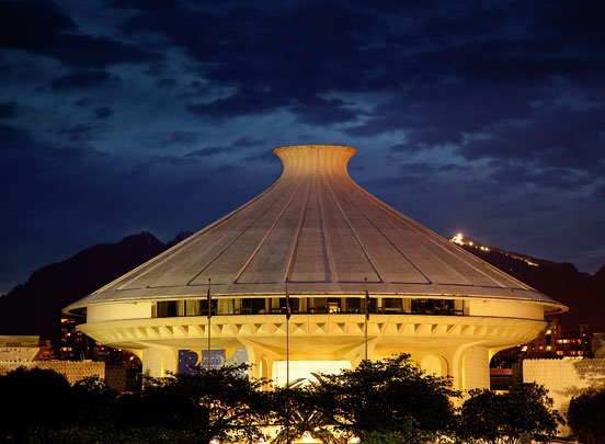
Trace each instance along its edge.
<instances>
[{"instance_id":1,"label":"continuous dark treeline along the bottom, in front of the building","mask_svg":"<svg viewBox=\"0 0 605 444\"><path fill-rule=\"evenodd\" d=\"M547 441L561 422L546 390L523 384L509 394L473 390L461 407L448 377L426 375L402 354L364 361L354 371L317 375L307 385L274 388L246 376L247 366L149 378L138 392L102 380L73 386L45 369L0 376L0 441L18 443L274 442L310 435L336 444L516 443L522 433Z\"/></svg>"}]
</instances>

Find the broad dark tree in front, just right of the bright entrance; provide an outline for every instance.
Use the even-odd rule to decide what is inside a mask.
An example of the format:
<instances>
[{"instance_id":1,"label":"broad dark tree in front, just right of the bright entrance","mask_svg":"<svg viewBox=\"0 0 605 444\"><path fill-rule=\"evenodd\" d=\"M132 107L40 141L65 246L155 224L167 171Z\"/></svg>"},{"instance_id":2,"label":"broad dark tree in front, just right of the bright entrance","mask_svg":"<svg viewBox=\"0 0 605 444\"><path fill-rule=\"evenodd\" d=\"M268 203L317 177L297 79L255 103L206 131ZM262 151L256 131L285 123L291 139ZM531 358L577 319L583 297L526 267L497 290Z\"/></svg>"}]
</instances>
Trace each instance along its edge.
<instances>
[{"instance_id":1,"label":"broad dark tree in front, just right of the bright entrance","mask_svg":"<svg viewBox=\"0 0 605 444\"><path fill-rule=\"evenodd\" d=\"M315 408L362 440L377 433L420 443L446 433L455 418L450 398L459 394L450 378L426 375L408 358L362 361L354 371L323 374L312 390Z\"/></svg>"}]
</instances>

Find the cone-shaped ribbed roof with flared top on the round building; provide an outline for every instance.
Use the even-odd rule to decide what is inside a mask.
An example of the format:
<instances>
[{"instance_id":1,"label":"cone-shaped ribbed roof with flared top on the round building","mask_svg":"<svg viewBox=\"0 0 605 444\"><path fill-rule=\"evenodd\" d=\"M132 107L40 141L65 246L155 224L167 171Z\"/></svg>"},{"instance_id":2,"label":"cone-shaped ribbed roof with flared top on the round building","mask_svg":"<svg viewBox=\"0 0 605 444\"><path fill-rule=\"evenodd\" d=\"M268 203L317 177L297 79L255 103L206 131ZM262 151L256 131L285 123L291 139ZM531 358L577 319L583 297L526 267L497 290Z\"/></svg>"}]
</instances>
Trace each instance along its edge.
<instances>
[{"instance_id":1,"label":"cone-shaped ribbed roof with flared top on the round building","mask_svg":"<svg viewBox=\"0 0 605 444\"><path fill-rule=\"evenodd\" d=\"M355 148L276 148L262 194L67 310L91 304L284 294L480 297L562 308L374 197L349 177Z\"/></svg>"}]
</instances>

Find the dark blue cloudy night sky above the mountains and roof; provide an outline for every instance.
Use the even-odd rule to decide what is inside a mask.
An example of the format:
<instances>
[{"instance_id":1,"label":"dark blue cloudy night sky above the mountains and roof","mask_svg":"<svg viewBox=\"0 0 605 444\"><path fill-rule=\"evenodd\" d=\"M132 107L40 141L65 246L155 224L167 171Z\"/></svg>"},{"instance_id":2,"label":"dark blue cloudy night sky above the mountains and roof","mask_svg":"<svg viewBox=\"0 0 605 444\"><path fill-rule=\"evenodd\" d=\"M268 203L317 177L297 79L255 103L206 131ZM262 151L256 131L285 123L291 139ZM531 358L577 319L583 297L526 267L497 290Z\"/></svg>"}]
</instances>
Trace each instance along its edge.
<instances>
[{"instance_id":1,"label":"dark blue cloudy night sky above the mountains and roof","mask_svg":"<svg viewBox=\"0 0 605 444\"><path fill-rule=\"evenodd\" d=\"M202 229L309 143L442 236L593 273L605 2L1 0L0 293Z\"/></svg>"}]
</instances>

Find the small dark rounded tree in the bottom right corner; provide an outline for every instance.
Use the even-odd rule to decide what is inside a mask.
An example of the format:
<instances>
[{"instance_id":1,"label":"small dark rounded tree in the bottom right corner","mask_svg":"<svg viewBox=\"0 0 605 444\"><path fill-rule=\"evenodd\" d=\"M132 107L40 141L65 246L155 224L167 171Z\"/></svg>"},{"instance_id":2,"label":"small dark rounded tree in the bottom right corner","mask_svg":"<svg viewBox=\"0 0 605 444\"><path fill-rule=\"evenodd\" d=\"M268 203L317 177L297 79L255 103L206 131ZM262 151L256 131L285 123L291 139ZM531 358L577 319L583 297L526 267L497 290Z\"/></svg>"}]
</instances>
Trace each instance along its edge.
<instances>
[{"instance_id":1,"label":"small dark rounded tree in the bottom right corner","mask_svg":"<svg viewBox=\"0 0 605 444\"><path fill-rule=\"evenodd\" d=\"M567 417L573 433L587 444L605 443L605 389L573 397Z\"/></svg>"}]
</instances>

